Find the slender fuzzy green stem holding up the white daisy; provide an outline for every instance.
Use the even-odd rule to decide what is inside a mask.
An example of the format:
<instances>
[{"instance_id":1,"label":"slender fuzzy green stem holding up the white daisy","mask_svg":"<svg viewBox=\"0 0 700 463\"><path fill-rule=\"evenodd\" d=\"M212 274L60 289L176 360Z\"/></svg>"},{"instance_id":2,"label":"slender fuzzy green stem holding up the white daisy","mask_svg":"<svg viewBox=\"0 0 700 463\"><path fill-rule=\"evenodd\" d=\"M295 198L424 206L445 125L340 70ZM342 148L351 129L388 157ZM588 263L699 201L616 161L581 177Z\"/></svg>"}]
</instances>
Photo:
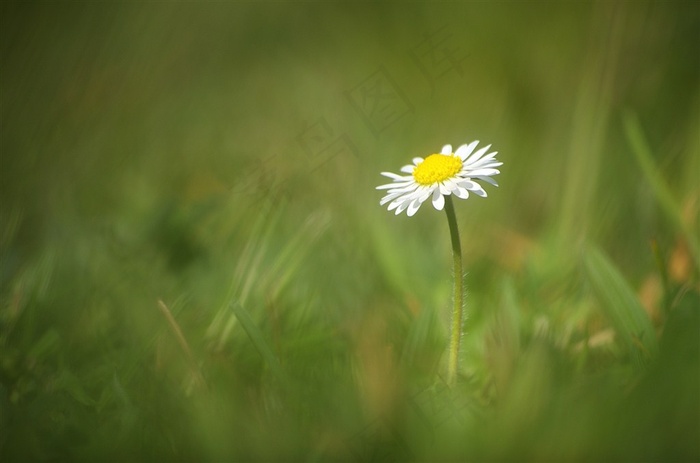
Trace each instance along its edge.
<instances>
[{"instance_id":1,"label":"slender fuzzy green stem holding up the white daisy","mask_svg":"<svg viewBox=\"0 0 700 463\"><path fill-rule=\"evenodd\" d=\"M459 229L457 218L452 205L452 196L445 197L445 212L447 223L450 225L450 237L452 238L452 260L454 264L454 306L452 308L452 336L450 338L450 354L447 364L447 383L452 386L457 376L459 364L459 343L462 338L462 317L464 310L464 285L462 282L462 246L459 243Z\"/></svg>"}]
</instances>

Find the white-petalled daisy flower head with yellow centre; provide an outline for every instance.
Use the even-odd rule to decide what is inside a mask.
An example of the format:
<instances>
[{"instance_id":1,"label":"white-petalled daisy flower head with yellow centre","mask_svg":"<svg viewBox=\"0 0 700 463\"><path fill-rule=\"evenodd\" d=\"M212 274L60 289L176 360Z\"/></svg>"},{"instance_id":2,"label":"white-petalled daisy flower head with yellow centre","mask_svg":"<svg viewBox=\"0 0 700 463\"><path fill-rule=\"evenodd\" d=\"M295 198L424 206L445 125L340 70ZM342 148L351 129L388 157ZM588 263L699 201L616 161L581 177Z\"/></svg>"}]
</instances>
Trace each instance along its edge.
<instances>
[{"instance_id":1,"label":"white-petalled daisy flower head with yellow centre","mask_svg":"<svg viewBox=\"0 0 700 463\"><path fill-rule=\"evenodd\" d=\"M379 204L389 203L390 211L395 210L399 215L405 210L410 217L428 198L432 198L433 206L439 211L445 206L447 195L467 199L471 191L485 198L486 192L476 180L498 186L491 177L500 173L496 167L503 163L496 160L497 151L486 154L491 145L474 151L478 144L478 141L473 141L455 152L452 152L452 145L445 145L439 154L431 154L425 159L413 158L413 164L401 168L401 172L409 175L382 172L393 182L377 187L378 190L387 190Z\"/></svg>"}]
</instances>

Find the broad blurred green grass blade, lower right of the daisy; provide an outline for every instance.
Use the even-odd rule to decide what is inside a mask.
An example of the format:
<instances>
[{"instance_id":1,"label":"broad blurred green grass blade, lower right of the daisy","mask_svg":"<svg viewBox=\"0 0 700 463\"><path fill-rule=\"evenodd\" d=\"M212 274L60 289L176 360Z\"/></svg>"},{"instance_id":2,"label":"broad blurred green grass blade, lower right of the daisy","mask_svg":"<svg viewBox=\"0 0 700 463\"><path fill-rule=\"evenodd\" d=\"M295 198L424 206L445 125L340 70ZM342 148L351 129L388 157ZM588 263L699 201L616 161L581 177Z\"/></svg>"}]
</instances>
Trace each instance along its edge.
<instances>
[{"instance_id":1,"label":"broad blurred green grass blade, lower right of the daisy","mask_svg":"<svg viewBox=\"0 0 700 463\"><path fill-rule=\"evenodd\" d=\"M640 365L656 356L658 343L654 327L644 308L620 272L596 247L584 251L588 281L605 314L625 347Z\"/></svg>"}]
</instances>

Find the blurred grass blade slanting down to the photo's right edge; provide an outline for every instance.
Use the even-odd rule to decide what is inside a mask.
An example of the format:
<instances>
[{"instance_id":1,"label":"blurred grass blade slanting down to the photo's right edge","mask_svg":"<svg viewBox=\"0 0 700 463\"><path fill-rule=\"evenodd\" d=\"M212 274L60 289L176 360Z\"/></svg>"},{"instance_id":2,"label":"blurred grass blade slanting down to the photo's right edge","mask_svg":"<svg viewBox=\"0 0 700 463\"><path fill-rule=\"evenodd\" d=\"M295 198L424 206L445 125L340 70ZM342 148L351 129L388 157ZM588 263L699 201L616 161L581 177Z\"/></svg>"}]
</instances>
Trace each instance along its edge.
<instances>
[{"instance_id":1,"label":"blurred grass blade slanting down to the photo's right edge","mask_svg":"<svg viewBox=\"0 0 700 463\"><path fill-rule=\"evenodd\" d=\"M683 234L690 248L693 261L695 261L695 266L700 269L700 245L698 245L697 236L695 236L691 232L690 227L683 222L681 209L673 198L668 185L664 182L663 178L661 178L659 169L654 164L654 158L651 155L649 144L642 133L639 119L637 119L634 113L626 112L623 117L623 122L625 124L627 141L632 148L632 152L637 159L639 167L642 169L644 177L651 187L651 191L653 191L656 200L661 205L661 209L666 213L671 222L673 222L673 225L678 231Z\"/></svg>"}]
</instances>

